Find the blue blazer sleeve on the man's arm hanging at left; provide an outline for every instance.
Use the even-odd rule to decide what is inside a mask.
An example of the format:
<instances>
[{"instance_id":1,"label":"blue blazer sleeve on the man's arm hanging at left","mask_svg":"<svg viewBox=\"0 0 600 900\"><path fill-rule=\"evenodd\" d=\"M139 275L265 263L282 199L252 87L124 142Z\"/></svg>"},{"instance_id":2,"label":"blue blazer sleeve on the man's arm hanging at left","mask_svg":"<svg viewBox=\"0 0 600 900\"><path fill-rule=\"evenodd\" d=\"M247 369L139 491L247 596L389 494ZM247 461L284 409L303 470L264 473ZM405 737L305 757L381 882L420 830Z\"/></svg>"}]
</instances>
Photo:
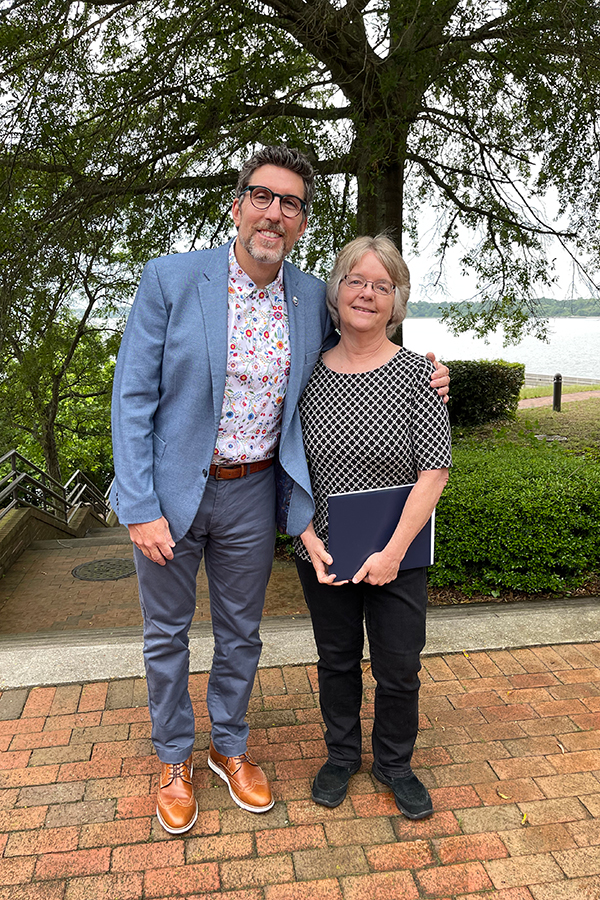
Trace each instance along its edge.
<instances>
[{"instance_id":1,"label":"blue blazer sleeve on the man's arm hanging at left","mask_svg":"<svg viewBox=\"0 0 600 900\"><path fill-rule=\"evenodd\" d=\"M115 480L111 503L124 525L152 522L162 515L153 473L161 441L154 436L153 423L168 322L156 263L151 260L144 268L129 314L113 386Z\"/></svg>"}]
</instances>

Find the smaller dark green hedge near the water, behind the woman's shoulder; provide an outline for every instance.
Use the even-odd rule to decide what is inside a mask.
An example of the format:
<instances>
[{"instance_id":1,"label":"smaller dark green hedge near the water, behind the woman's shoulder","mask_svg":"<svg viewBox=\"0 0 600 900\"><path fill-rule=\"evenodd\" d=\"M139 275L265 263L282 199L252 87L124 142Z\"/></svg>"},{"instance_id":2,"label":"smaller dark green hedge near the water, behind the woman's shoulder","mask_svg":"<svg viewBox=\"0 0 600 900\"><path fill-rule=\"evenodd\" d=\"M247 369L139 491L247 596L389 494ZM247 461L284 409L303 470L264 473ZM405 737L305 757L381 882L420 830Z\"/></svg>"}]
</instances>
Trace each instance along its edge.
<instances>
[{"instance_id":1,"label":"smaller dark green hedge near the water, behind the woman's shoulder","mask_svg":"<svg viewBox=\"0 0 600 900\"><path fill-rule=\"evenodd\" d=\"M445 361L450 369L448 411L453 425L483 425L514 417L525 366L502 359Z\"/></svg>"}]
</instances>

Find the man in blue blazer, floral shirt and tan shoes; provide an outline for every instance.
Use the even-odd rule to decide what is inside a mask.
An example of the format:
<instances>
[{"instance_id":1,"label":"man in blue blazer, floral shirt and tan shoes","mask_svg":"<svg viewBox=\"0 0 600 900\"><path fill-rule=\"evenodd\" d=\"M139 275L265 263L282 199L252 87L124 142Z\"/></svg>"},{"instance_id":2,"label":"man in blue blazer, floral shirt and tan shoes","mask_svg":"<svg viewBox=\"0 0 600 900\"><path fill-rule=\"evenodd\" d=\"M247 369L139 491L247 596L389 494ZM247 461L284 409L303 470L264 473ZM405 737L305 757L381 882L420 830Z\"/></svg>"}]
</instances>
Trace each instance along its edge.
<instances>
[{"instance_id":1,"label":"man in blue blazer, floral shirt and tan shoes","mask_svg":"<svg viewBox=\"0 0 600 900\"><path fill-rule=\"evenodd\" d=\"M203 556L215 640L208 764L243 809L265 812L274 802L247 752L245 715L273 560L276 468L280 527L298 534L314 511L296 405L335 338L325 285L284 261L312 196L301 153L256 153L238 180L235 241L146 265L117 361L111 502L134 543L162 764L157 815L172 834L198 814L188 632Z\"/></svg>"}]
</instances>

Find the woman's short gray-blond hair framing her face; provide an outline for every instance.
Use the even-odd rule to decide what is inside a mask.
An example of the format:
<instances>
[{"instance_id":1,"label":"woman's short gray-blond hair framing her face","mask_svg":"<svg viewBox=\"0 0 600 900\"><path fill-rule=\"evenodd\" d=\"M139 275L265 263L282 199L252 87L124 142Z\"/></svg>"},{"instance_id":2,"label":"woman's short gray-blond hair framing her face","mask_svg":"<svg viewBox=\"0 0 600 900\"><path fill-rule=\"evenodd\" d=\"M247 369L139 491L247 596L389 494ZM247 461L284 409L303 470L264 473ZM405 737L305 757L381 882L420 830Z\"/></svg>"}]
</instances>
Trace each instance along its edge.
<instances>
[{"instance_id":1,"label":"woman's short gray-blond hair framing her face","mask_svg":"<svg viewBox=\"0 0 600 900\"><path fill-rule=\"evenodd\" d=\"M410 273L408 266L400 256L398 248L391 238L385 234L378 234L375 237L355 238L355 240L350 241L349 244L346 244L340 250L327 282L327 309L329 310L331 321L336 328L339 328L340 314L338 312L337 295L340 281L352 271L365 253L375 254L396 287L392 315L386 327L386 334L388 337L391 337L406 316L406 304L410 294Z\"/></svg>"}]
</instances>

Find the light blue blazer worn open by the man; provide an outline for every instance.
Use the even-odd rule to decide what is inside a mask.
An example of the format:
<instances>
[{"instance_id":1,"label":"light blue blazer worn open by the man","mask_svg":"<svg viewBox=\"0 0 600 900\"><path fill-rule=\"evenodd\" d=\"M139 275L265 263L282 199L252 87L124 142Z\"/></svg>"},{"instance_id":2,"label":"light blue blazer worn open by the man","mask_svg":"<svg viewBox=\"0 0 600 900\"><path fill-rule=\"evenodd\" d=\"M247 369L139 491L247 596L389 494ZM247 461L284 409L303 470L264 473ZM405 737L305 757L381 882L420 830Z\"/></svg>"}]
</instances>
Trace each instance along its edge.
<instances>
[{"instance_id":1,"label":"light blue blazer worn open by the man","mask_svg":"<svg viewBox=\"0 0 600 900\"><path fill-rule=\"evenodd\" d=\"M117 359L110 500L130 525L163 515L173 540L189 530L212 462L227 365L229 244L151 260ZM298 399L333 341L325 285L284 263L291 368L279 443L280 529L299 534L314 513Z\"/></svg>"}]
</instances>

